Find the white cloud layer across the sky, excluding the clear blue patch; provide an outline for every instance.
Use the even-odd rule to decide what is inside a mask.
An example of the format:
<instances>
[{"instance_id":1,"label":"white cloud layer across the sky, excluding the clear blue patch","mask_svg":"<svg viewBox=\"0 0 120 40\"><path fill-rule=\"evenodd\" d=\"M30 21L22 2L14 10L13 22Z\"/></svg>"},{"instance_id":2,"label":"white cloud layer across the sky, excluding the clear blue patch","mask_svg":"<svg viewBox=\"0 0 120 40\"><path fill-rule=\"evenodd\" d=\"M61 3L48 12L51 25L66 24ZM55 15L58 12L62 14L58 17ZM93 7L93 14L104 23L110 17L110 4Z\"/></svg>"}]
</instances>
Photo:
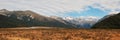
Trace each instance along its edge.
<instances>
[{"instance_id":1,"label":"white cloud layer across the sky, excluding the clear blue patch","mask_svg":"<svg viewBox=\"0 0 120 40\"><path fill-rule=\"evenodd\" d=\"M120 11L120 0L0 0L0 9L33 10L44 15L85 11L88 10L87 6L101 10Z\"/></svg>"}]
</instances>

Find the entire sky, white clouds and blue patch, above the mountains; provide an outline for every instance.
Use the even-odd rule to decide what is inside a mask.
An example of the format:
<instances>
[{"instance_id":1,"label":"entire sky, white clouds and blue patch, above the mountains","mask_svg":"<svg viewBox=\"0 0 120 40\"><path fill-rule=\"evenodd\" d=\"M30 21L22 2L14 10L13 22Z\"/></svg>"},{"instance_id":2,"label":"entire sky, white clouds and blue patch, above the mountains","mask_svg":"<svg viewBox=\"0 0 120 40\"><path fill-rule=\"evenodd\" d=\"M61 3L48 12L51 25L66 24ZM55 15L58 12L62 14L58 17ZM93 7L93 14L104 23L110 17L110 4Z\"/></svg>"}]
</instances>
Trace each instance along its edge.
<instances>
[{"instance_id":1,"label":"entire sky, white clouds and blue patch, above the mountains","mask_svg":"<svg viewBox=\"0 0 120 40\"><path fill-rule=\"evenodd\" d=\"M120 12L120 0L0 0L0 9L31 10L45 16L102 18Z\"/></svg>"}]
</instances>

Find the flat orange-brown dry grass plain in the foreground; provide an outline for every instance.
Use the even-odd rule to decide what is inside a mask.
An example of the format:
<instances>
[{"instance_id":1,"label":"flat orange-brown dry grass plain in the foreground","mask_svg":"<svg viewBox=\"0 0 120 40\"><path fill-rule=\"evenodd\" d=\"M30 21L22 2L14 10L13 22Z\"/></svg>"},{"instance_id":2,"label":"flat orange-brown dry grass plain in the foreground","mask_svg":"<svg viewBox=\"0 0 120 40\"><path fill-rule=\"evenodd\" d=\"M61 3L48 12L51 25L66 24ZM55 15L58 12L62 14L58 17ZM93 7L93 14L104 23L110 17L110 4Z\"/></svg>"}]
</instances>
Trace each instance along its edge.
<instances>
[{"instance_id":1,"label":"flat orange-brown dry grass plain in the foreground","mask_svg":"<svg viewBox=\"0 0 120 40\"><path fill-rule=\"evenodd\" d=\"M120 40L120 29L0 29L0 40Z\"/></svg>"}]
</instances>

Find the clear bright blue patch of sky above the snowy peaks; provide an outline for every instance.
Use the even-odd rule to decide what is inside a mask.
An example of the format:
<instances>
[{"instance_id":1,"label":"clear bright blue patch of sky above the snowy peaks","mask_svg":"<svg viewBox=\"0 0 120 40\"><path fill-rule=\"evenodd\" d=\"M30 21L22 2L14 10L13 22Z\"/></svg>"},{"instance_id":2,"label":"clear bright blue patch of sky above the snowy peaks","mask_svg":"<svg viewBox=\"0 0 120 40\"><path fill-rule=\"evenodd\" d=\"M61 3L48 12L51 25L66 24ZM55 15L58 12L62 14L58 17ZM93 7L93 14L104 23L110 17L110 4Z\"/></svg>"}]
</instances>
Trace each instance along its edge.
<instances>
[{"instance_id":1,"label":"clear bright blue patch of sky above the snowy peaks","mask_svg":"<svg viewBox=\"0 0 120 40\"><path fill-rule=\"evenodd\" d=\"M71 17L79 17L79 16L95 16L95 17L99 17L99 18L102 18L106 15L108 15L108 13L110 11L103 11L103 10L100 10L98 8L93 8L91 6L88 6L89 10L85 10L85 11L82 11L82 12L78 12L78 11L72 11L72 12L67 12L65 15L66 16L71 16Z\"/></svg>"}]
</instances>

